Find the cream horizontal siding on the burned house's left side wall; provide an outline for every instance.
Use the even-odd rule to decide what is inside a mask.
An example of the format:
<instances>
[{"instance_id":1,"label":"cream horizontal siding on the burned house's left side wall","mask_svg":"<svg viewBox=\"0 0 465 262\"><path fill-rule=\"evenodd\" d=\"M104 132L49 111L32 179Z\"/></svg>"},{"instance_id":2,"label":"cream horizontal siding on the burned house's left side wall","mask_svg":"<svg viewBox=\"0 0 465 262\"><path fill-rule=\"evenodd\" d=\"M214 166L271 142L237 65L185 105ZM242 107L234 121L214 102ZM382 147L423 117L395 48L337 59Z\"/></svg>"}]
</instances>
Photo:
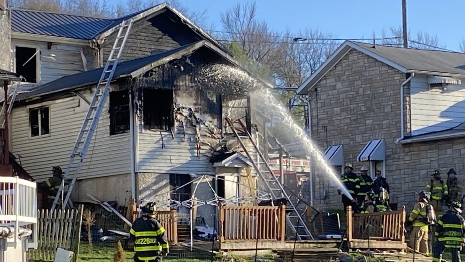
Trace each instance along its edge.
<instances>
[{"instance_id":1,"label":"cream horizontal siding on the burned house's left side wall","mask_svg":"<svg viewBox=\"0 0 465 262\"><path fill-rule=\"evenodd\" d=\"M84 95L91 100L89 92ZM45 105L50 107L50 135L31 138L29 108ZM78 97L13 108L10 151L15 155L21 155L23 167L34 179L50 177L55 165L59 165L63 171L66 170L87 108L87 103ZM130 135L125 133L110 137L109 124L107 102L78 179L131 172Z\"/></svg>"}]
</instances>

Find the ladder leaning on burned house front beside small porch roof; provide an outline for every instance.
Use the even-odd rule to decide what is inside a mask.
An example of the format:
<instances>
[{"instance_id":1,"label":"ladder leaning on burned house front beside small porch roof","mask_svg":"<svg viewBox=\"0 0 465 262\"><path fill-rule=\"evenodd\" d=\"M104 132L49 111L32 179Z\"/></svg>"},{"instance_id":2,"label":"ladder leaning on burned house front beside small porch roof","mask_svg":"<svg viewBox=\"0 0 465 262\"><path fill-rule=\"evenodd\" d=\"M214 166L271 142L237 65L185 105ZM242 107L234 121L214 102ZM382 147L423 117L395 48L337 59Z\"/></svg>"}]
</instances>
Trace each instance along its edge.
<instances>
[{"instance_id":1,"label":"ladder leaning on burned house front beside small porch roof","mask_svg":"<svg viewBox=\"0 0 465 262\"><path fill-rule=\"evenodd\" d=\"M286 214L286 221L289 224L289 226L291 226L294 234L297 235L297 238L299 240L305 240L307 238L314 240L312 234L310 233L304 220L302 219L302 216L299 214L299 211L297 210L296 206L294 206L294 204L292 203L289 195L286 193L286 190L284 189L284 186L279 181L279 178L273 173L270 165L268 165L268 162L266 161L263 154L260 152L257 144L255 144L255 142L253 141L252 136L250 135L249 131L247 131L246 129L246 126L242 124L240 120L236 120L233 122L228 117L226 117L226 123L233 130L234 135L236 135L236 137L238 138L239 144L242 146L242 149L244 149L244 152L246 152L247 157L251 160L253 168L259 175L260 179L262 179L262 181L265 183L273 200L277 199L278 194L282 195L282 197L287 200L287 207L290 207L292 212L290 212L289 214ZM246 136L240 136L238 131L246 133ZM254 158L252 158L251 153L248 152L246 146L244 145L244 142L242 141L242 138L249 139L249 141L252 143L253 147L255 148L257 154L259 155L259 159L261 162L257 162ZM266 166L266 170L260 170L259 168L260 164L264 164ZM271 174L271 178L268 178L267 174ZM287 210L287 207L286 207L286 210ZM303 230L299 230L299 229L303 229Z\"/></svg>"}]
</instances>

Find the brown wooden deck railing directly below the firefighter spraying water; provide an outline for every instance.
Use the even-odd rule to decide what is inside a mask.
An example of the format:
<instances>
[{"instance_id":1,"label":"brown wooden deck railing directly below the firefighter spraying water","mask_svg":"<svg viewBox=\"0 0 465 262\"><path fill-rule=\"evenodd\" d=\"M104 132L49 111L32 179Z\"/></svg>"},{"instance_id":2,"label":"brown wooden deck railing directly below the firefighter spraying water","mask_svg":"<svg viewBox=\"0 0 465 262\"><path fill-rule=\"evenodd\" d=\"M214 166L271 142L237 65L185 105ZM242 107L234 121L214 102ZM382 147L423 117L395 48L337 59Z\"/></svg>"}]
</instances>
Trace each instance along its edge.
<instances>
[{"instance_id":1,"label":"brown wooden deck railing directly below the firefighter spraying water","mask_svg":"<svg viewBox=\"0 0 465 262\"><path fill-rule=\"evenodd\" d=\"M405 242L405 206L400 211L352 214L347 207L347 240L363 239Z\"/></svg>"}]
</instances>

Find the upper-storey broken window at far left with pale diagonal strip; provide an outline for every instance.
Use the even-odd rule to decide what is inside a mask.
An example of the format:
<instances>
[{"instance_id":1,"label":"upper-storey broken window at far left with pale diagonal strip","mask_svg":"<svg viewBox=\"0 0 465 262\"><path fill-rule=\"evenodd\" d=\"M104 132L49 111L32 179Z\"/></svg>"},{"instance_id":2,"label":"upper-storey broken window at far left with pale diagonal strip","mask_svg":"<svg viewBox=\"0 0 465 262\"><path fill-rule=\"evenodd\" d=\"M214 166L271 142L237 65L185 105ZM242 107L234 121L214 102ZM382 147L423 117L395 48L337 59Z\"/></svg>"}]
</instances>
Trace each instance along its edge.
<instances>
[{"instance_id":1,"label":"upper-storey broken window at far left with pale diagonal strip","mask_svg":"<svg viewBox=\"0 0 465 262\"><path fill-rule=\"evenodd\" d=\"M23 82L38 83L37 54L38 49L29 47L16 47L15 69L18 76L25 78Z\"/></svg>"}]
</instances>

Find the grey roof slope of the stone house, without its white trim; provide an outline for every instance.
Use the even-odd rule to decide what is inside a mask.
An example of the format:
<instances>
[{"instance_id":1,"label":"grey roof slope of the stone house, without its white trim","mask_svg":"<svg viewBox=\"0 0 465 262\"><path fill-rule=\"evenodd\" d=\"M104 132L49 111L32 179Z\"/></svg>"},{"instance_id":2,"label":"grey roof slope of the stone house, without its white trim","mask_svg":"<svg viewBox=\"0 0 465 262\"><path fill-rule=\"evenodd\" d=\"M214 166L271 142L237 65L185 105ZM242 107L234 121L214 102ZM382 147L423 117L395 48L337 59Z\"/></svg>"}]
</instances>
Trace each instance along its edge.
<instances>
[{"instance_id":1,"label":"grey roof slope of the stone house, without its white trim","mask_svg":"<svg viewBox=\"0 0 465 262\"><path fill-rule=\"evenodd\" d=\"M465 54L353 42L409 70L465 75Z\"/></svg>"}]
</instances>

